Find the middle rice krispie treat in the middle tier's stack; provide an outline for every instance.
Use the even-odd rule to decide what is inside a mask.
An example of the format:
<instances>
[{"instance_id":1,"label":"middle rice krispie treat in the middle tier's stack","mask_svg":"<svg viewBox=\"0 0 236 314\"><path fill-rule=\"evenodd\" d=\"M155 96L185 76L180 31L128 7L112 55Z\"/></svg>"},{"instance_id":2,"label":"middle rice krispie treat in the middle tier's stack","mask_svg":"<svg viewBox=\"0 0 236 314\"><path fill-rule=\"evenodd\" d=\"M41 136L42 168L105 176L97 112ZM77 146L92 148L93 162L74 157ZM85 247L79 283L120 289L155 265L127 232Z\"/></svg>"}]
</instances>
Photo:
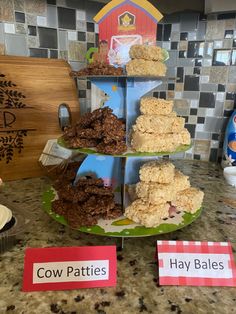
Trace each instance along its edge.
<instances>
[{"instance_id":1,"label":"middle rice krispie treat in the middle tier's stack","mask_svg":"<svg viewBox=\"0 0 236 314\"><path fill-rule=\"evenodd\" d=\"M182 117L163 116L163 115L140 115L133 125L134 131L144 133L179 133L184 129L185 119Z\"/></svg>"}]
</instances>

